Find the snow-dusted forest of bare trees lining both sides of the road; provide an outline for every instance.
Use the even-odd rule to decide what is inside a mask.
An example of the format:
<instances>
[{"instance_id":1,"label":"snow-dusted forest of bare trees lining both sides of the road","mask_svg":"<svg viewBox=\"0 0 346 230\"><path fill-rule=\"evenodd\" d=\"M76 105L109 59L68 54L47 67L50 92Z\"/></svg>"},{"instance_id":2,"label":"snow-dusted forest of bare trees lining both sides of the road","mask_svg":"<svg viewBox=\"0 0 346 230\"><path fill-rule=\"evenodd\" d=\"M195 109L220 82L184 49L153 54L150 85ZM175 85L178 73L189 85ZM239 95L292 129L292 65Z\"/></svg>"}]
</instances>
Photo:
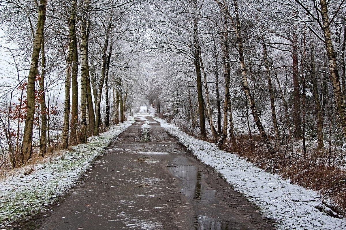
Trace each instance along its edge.
<instances>
[{"instance_id":1,"label":"snow-dusted forest of bare trees lining both sides of the road","mask_svg":"<svg viewBox=\"0 0 346 230\"><path fill-rule=\"evenodd\" d=\"M146 105L346 208L345 0L1 0L0 171Z\"/></svg>"}]
</instances>

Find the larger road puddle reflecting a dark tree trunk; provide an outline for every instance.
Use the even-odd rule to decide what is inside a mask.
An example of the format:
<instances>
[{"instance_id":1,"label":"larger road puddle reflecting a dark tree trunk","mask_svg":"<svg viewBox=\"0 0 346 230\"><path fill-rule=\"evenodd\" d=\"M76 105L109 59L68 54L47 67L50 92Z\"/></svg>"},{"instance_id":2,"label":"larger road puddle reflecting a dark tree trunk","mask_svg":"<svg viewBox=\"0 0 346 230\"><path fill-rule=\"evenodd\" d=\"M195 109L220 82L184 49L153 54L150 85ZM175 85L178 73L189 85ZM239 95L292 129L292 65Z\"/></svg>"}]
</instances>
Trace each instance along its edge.
<instances>
[{"instance_id":1,"label":"larger road puddle reflecting a dark tree trunk","mask_svg":"<svg viewBox=\"0 0 346 230\"><path fill-rule=\"evenodd\" d=\"M176 163L182 161L182 157L175 159ZM171 167L171 172L176 175L182 184L181 192L195 200L212 201L215 191L207 188L203 183L203 173L194 165L176 165Z\"/></svg>"}]
</instances>

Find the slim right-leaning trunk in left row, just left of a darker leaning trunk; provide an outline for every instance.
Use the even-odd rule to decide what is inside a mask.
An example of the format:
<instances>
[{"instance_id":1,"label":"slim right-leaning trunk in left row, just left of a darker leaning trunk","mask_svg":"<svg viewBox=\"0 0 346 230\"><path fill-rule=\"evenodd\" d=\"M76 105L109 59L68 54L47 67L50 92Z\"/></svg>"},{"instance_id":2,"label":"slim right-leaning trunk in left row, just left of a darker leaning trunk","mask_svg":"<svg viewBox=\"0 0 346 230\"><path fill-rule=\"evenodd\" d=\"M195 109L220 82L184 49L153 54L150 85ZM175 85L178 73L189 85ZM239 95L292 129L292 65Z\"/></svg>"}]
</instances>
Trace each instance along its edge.
<instances>
[{"instance_id":1,"label":"slim right-leaning trunk in left row, just left of a darker leaning trunk","mask_svg":"<svg viewBox=\"0 0 346 230\"><path fill-rule=\"evenodd\" d=\"M101 70L101 78L100 78L100 83L99 87L97 90L97 101L96 101L96 117L95 117L95 128L94 128L94 135L98 136L99 135L99 129L100 129L100 121L101 121L101 96L102 96L102 88L103 88L103 83L104 83L104 78L106 76L106 64L107 64L107 48L108 48L108 42L109 42L109 35L110 31L112 28L112 16L109 18L107 30L106 30L106 37L104 39L104 45L102 48L102 70Z\"/></svg>"}]
</instances>

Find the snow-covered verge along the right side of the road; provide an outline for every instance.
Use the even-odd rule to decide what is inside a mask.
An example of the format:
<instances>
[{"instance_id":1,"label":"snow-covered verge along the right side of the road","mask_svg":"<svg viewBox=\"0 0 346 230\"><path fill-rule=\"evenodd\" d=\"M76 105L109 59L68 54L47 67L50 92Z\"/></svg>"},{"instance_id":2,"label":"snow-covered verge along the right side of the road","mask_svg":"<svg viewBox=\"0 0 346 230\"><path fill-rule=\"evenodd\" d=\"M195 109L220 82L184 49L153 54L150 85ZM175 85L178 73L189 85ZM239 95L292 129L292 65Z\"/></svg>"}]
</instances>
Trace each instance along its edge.
<instances>
[{"instance_id":1,"label":"snow-covered verge along the right side of the road","mask_svg":"<svg viewBox=\"0 0 346 230\"><path fill-rule=\"evenodd\" d=\"M176 136L199 160L215 168L235 190L260 207L264 215L276 220L279 229L346 229L346 219L334 218L325 213L331 210L322 204L317 192L267 173L236 154L219 150L215 144L189 136L162 119L155 120Z\"/></svg>"}]
</instances>

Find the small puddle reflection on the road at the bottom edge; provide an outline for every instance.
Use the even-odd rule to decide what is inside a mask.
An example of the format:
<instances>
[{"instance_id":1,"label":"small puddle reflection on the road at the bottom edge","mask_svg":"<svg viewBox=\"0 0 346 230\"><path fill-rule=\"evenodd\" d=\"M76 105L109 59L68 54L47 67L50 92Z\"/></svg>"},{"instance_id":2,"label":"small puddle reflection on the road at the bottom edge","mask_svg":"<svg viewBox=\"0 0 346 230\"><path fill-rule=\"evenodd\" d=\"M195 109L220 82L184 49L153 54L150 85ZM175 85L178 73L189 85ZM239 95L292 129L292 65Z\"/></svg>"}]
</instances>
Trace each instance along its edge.
<instances>
[{"instance_id":1,"label":"small puddle reflection on the road at the bottom edge","mask_svg":"<svg viewBox=\"0 0 346 230\"><path fill-rule=\"evenodd\" d=\"M199 215L193 223L195 230L228 230L230 224L220 220L208 217L206 215Z\"/></svg>"}]
</instances>

